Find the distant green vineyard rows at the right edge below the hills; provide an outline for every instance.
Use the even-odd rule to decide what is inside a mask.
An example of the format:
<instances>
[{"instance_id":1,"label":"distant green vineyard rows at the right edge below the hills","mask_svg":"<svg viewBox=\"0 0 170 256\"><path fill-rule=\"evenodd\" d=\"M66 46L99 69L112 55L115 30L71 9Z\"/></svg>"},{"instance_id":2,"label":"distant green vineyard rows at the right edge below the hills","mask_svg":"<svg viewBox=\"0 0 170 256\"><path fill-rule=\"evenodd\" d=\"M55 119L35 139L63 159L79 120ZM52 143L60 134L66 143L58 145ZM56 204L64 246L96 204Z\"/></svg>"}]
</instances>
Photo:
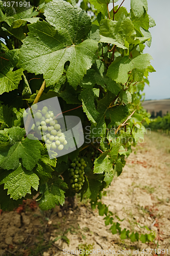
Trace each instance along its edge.
<instances>
[{"instance_id":1,"label":"distant green vineyard rows at the right edge below the hills","mask_svg":"<svg viewBox=\"0 0 170 256\"><path fill-rule=\"evenodd\" d=\"M170 134L170 114L151 119L151 122L149 124L146 123L144 126L153 131L166 132L167 134Z\"/></svg>"}]
</instances>

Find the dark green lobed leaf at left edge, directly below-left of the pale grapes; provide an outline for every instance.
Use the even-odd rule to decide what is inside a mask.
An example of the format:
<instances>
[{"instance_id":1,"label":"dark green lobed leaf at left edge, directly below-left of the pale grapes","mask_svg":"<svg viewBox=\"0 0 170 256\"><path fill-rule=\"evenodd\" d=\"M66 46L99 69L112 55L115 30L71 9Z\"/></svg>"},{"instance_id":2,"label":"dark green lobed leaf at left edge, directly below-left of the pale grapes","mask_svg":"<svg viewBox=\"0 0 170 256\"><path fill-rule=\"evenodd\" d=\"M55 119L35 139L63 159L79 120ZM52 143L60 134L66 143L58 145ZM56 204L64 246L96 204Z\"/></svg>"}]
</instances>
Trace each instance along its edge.
<instances>
[{"instance_id":1,"label":"dark green lobed leaf at left edge, directly below-left of the pale grapes","mask_svg":"<svg viewBox=\"0 0 170 256\"><path fill-rule=\"evenodd\" d=\"M16 169L21 159L22 165L27 170L32 170L40 158L39 140L33 134L24 139L25 130L20 127L5 129L4 132L9 134L10 145L0 150L0 166L8 170Z\"/></svg>"}]
</instances>

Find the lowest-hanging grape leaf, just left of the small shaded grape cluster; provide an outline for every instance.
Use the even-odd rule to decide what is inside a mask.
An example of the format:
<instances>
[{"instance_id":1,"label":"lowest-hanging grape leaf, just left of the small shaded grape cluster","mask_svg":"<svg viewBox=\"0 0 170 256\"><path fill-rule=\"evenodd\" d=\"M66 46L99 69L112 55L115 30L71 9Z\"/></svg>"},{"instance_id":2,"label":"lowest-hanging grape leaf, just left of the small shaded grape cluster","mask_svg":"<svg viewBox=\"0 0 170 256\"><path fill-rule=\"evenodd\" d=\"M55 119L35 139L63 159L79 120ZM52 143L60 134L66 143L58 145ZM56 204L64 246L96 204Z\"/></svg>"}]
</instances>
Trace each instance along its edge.
<instances>
[{"instance_id":1,"label":"lowest-hanging grape leaf, just left of the small shaded grape cluster","mask_svg":"<svg viewBox=\"0 0 170 256\"><path fill-rule=\"evenodd\" d=\"M55 208L56 204L59 205L59 203L63 205L65 189L67 189L67 184L57 177L42 184L40 186L42 197L38 200L40 209L52 209Z\"/></svg>"}]
</instances>

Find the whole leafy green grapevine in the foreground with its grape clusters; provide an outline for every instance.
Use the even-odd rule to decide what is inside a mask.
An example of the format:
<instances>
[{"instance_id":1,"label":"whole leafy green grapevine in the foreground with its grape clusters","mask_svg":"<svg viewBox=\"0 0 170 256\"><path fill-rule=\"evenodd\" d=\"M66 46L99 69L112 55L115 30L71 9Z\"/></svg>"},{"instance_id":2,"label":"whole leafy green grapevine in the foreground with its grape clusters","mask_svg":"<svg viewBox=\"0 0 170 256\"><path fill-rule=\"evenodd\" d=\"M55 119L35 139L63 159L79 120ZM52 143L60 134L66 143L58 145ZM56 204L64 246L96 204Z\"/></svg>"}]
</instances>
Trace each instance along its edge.
<instances>
[{"instance_id":1,"label":"whole leafy green grapevine in the foreground with its grape clusters","mask_svg":"<svg viewBox=\"0 0 170 256\"><path fill-rule=\"evenodd\" d=\"M13 210L38 194L48 210L79 193L92 208L107 208L102 191L149 123L141 92L155 70L143 50L155 22L147 1L131 0L130 10L116 1L47 2L19 10L0 1L0 207ZM59 112L43 103L54 97ZM70 142L61 114L81 120L80 147L80 131Z\"/></svg>"}]
</instances>

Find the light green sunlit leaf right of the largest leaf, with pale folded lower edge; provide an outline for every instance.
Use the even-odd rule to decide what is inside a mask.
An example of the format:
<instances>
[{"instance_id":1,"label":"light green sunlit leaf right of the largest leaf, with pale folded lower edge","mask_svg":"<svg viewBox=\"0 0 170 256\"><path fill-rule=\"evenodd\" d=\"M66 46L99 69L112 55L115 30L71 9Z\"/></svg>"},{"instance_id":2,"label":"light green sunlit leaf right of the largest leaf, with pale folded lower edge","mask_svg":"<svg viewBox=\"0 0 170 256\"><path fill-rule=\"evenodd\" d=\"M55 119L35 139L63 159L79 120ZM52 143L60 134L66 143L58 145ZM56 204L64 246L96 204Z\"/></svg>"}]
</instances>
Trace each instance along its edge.
<instances>
[{"instance_id":1,"label":"light green sunlit leaf right of the largest leaf, with pale folded lower edge","mask_svg":"<svg viewBox=\"0 0 170 256\"><path fill-rule=\"evenodd\" d=\"M101 42L127 49L125 40L134 38L135 30L129 17L121 16L118 21L102 19L100 23Z\"/></svg>"}]
</instances>

